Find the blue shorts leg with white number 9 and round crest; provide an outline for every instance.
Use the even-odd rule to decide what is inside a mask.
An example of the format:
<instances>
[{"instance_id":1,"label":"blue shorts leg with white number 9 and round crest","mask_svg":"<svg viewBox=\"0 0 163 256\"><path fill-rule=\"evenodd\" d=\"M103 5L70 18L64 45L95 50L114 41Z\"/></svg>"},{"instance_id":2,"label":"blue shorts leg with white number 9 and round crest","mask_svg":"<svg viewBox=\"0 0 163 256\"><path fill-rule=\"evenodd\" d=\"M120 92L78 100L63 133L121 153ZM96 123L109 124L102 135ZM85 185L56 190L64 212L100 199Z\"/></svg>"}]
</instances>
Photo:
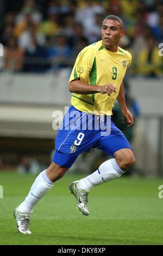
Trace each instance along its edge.
<instances>
[{"instance_id":1,"label":"blue shorts leg with white number 9 and round crest","mask_svg":"<svg viewBox=\"0 0 163 256\"><path fill-rule=\"evenodd\" d=\"M90 126L93 118L94 116L71 106L69 115L65 114L55 138L54 163L64 163L70 168L79 154L90 151L101 136L100 130L95 130Z\"/></svg>"}]
</instances>

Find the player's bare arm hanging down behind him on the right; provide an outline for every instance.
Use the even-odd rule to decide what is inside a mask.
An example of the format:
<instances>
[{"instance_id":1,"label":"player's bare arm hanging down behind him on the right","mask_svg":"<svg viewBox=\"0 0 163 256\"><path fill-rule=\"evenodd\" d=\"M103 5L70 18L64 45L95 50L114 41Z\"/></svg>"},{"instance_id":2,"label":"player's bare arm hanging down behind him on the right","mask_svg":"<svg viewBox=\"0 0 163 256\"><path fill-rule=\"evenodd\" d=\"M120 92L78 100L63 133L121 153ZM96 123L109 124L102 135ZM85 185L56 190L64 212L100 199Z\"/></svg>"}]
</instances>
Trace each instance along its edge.
<instances>
[{"instance_id":1,"label":"player's bare arm hanging down behind him on the right","mask_svg":"<svg viewBox=\"0 0 163 256\"><path fill-rule=\"evenodd\" d=\"M127 105L126 105L126 100L125 100L125 97L124 97L124 85L123 85L123 82L121 84L117 100L118 100L118 103L121 105L122 114L123 114L124 118L126 118L126 121L128 123L128 127L132 126L133 123L134 123L134 117L131 114L131 112L128 110Z\"/></svg>"}]
</instances>

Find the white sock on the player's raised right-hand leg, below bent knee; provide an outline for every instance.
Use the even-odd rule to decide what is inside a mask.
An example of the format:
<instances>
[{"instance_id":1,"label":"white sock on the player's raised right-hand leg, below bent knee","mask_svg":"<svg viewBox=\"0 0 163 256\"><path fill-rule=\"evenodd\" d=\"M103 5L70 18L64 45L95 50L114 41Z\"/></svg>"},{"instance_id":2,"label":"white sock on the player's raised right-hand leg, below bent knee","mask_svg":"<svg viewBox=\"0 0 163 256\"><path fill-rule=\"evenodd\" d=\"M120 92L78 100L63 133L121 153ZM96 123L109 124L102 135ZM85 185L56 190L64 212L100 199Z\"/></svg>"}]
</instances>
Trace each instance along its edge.
<instances>
[{"instance_id":1,"label":"white sock on the player's raised right-hand leg, below bent knee","mask_svg":"<svg viewBox=\"0 0 163 256\"><path fill-rule=\"evenodd\" d=\"M114 178L120 177L124 172L125 171L122 171L117 165L115 158L112 158L102 163L97 171L79 180L78 187L89 192L91 188L104 182L114 180Z\"/></svg>"}]
</instances>

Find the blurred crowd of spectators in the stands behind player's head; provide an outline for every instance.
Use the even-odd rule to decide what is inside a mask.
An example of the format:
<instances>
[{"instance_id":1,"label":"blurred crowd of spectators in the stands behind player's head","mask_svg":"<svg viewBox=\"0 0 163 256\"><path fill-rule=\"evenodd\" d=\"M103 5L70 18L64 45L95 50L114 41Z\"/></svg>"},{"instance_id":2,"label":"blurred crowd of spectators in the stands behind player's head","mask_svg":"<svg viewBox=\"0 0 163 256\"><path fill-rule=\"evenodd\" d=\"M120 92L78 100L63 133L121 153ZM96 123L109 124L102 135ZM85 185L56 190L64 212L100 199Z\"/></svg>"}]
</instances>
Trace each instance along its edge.
<instances>
[{"instance_id":1,"label":"blurred crowd of spectators in the stands behind player's head","mask_svg":"<svg viewBox=\"0 0 163 256\"><path fill-rule=\"evenodd\" d=\"M120 46L133 55L131 75L160 77L163 43L161 0L2 0L2 70L43 73L72 67L83 47L101 40L105 16L120 16L126 35Z\"/></svg>"}]
</instances>

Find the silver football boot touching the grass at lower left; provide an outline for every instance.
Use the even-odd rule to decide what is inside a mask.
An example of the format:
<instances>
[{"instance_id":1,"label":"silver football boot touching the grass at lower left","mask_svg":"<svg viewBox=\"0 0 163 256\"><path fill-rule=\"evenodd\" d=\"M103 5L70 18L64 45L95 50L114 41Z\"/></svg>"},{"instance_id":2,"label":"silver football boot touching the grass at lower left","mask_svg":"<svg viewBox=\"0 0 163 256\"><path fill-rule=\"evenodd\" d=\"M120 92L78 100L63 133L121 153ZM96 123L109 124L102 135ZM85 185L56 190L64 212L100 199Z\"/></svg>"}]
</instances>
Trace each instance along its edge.
<instances>
[{"instance_id":1,"label":"silver football boot touching the grass at lower left","mask_svg":"<svg viewBox=\"0 0 163 256\"><path fill-rule=\"evenodd\" d=\"M22 234L32 234L29 229L30 213L20 213L16 208L14 210L14 217L16 219L17 230Z\"/></svg>"}]
</instances>

